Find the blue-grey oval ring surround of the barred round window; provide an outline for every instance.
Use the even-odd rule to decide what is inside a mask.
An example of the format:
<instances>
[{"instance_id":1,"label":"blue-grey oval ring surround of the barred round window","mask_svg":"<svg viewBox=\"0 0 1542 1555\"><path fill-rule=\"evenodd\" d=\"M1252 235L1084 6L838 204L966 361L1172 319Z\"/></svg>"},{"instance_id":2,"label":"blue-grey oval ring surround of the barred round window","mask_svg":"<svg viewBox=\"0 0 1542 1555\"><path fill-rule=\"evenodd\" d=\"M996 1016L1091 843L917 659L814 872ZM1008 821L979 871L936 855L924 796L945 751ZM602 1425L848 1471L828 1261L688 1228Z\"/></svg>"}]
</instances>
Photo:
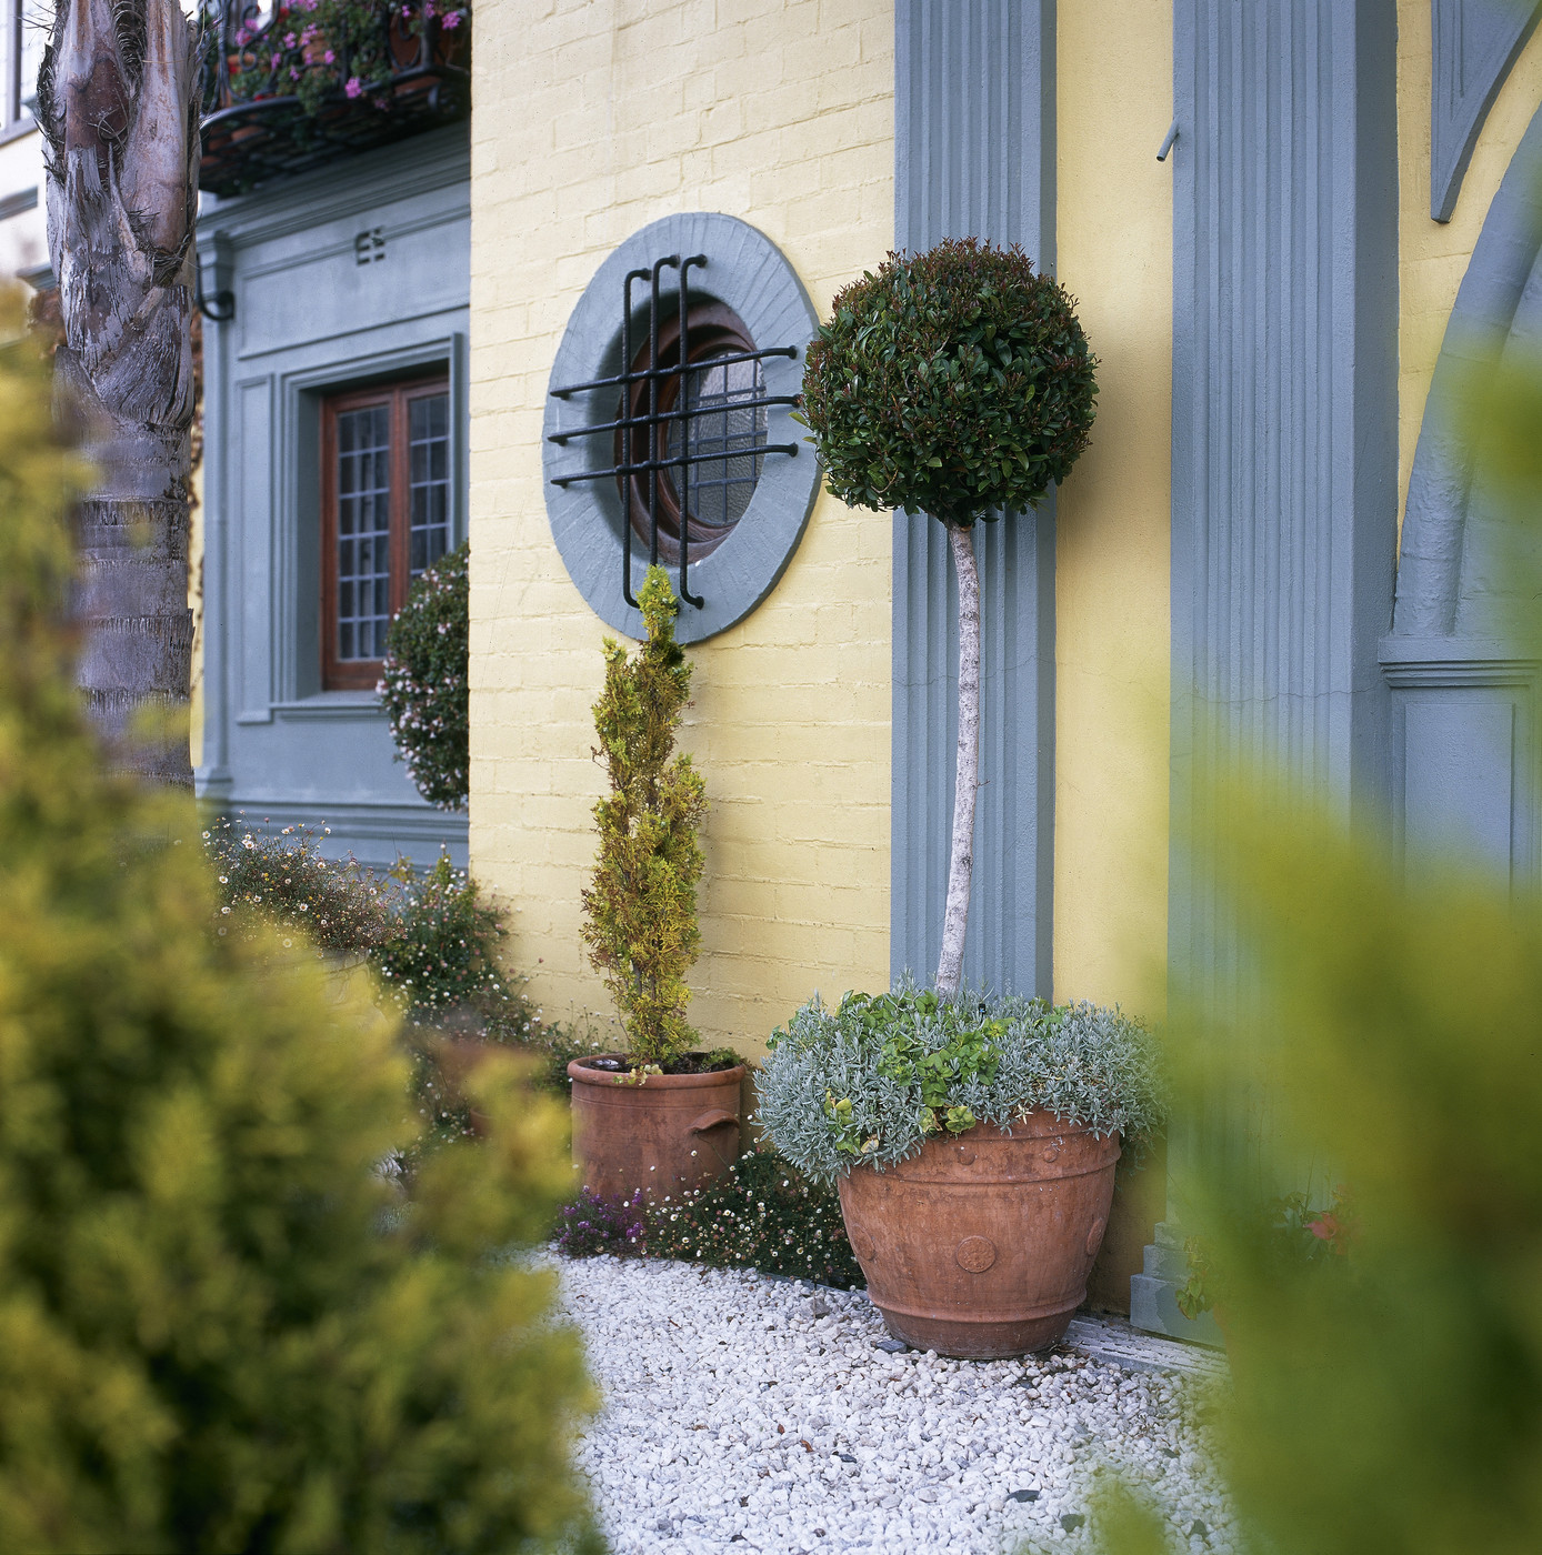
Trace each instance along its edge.
<instances>
[{"instance_id":1,"label":"blue-grey oval ring surround of the barred round window","mask_svg":"<svg viewBox=\"0 0 1542 1555\"><path fill-rule=\"evenodd\" d=\"M756 347L795 347L797 359L772 356L761 365L769 395L794 395L803 381L803 350L818 330L818 314L797 271L762 232L734 216L691 211L664 216L635 232L612 252L588 283L552 362L551 386L591 383L622 370L621 288L629 271L650 269L669 253L705 253L706 264L691 272L691 291L727 303L744 320ZM666 272L666 281L672 272ZM633 320L633 341L647 339L646 291L638 288L643 316ZM546 473L546 515L579 592L608 627L641 639L643 617L621 591L622 516L615 480L552 485L552 477L610 466L613 448L605 437L577 437L552 443L560 432L612 421L615 389L591 390L559 400L546 395L541 454ZM803 443L803 428L789 406L767 411L767 442L794 443L798 453L767 456L755 494L728 536L689 569L691 591L705 600L697 610L682 605L675 636L700 642L733 627L776 586L808 527L818 494L818 463ZM643 586L647 547L632 546L632 594Z\"/></svg>"}]
</instances>

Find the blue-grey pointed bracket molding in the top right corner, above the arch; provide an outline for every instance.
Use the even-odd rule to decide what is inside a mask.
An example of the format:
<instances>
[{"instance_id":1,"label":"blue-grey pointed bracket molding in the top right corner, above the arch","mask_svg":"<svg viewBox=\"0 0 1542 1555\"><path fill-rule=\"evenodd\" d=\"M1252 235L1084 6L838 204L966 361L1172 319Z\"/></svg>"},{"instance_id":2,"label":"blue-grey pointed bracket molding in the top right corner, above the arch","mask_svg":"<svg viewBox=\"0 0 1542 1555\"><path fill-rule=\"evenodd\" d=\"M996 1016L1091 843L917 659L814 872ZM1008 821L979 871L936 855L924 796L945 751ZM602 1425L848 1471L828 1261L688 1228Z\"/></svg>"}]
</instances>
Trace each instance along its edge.
<instances>
[{"instance_id":1,"label":"blue-grey pointed bracket molding in the top right corner, above the arch","mask_svg":"<svg viewBox=\"0 0 1542 1555\"><path fill-rule=\"evenodd\" d=\"M1542 0L1430 0L1430 215L1450 221L1478 131Z\"/></svg>"}]
</instances>

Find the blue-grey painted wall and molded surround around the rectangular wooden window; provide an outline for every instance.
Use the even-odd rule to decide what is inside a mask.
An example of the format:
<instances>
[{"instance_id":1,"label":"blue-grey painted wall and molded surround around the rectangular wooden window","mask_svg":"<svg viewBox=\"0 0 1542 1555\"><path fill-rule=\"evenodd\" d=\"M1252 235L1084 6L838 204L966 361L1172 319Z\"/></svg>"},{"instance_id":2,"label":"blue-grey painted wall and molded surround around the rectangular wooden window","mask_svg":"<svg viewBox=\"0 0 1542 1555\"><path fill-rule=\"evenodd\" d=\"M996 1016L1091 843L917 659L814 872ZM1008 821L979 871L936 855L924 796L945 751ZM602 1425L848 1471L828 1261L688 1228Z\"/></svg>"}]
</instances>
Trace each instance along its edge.
<instances>
[{"instance_id":1,"label":"blue-grey painted wall and molded surround around the rectangular wooden window","mask_svg":"<svg viewBox=\"0 0 1542 1555\"><path fill-rule=\"evenodd\" d=\"M361 235L364 241L361 243ZM465 126L238 199L205 197L204 760L212 809L328 826L333 852L465 861L467 821L425 804L372 692L321 689L321 404L442 367L451 524L467 518L470 156Z\"/></svg>"}]
</instances>

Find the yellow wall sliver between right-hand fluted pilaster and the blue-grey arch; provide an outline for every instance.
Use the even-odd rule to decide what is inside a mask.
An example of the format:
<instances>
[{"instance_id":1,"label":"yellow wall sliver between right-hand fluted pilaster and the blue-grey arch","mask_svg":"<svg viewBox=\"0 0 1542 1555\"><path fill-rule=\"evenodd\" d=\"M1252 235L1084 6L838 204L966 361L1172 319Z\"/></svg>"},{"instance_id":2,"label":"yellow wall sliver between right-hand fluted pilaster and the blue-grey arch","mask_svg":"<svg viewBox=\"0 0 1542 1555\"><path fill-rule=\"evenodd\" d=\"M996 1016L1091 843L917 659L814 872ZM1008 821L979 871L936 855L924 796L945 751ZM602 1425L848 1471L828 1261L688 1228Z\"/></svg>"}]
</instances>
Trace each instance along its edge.
<instances>
[{"instance_id":1,"label":"yellow wall sliver between right-hand fluted pilaster and the blue-grey arch","mask_svg":"<svg viewBox=\"0 0 1542 1555\"><path fill-rule=\"evenodd\" d=\"M1397 5L1397 474L1399 521L1435 359L1456 289L1520 137L1542 103L1542 30L1500 87L1449 222L1430 219L1430 6Z\"/></svg>"}]
</instances>

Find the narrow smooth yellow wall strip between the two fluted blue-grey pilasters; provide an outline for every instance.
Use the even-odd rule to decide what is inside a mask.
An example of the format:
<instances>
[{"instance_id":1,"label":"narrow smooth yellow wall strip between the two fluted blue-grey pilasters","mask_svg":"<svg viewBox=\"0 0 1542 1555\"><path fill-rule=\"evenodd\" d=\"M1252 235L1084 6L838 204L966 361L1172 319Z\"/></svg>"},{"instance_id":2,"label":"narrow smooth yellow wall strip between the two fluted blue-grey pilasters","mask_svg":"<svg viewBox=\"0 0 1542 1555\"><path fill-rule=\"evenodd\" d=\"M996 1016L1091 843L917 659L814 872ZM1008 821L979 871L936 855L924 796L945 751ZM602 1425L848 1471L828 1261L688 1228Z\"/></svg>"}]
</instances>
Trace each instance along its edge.
<instances>
[{"instance_id":1,"label":"narrow smooth yellow wall strip between the two fluted blue-grey pilasters","mask_svg":"<svg viewBox=\"0 0 1542 1555\"><path fill-rule=\"evenodd\" d=\"M1173 219L1156 149L1172 0L1078 0L1058 28L1058 271L1102 365L1092 446L1057 498L1055 997L1159 1015Z\"/></svg>"}]
</instances>

